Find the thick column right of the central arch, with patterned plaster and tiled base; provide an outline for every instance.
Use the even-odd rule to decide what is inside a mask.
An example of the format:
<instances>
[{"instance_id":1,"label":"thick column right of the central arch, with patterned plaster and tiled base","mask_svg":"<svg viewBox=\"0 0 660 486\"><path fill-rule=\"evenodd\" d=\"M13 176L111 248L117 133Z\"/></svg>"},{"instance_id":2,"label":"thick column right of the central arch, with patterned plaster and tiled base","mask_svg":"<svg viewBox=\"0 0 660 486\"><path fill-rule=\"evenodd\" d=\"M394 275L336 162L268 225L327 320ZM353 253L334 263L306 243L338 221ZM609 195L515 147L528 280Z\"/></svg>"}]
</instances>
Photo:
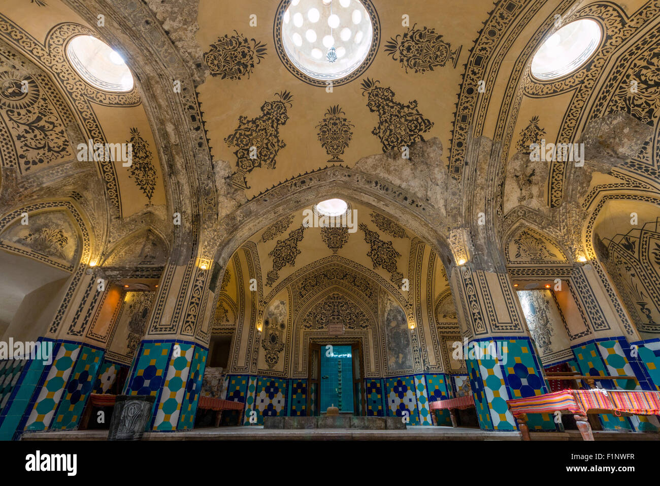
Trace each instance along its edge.
<instances>
[{"instance_id":1,"label":"thick column right of the central arch, with patterned plaster and tiled base","mask_svg":"<svg viewBox=\"0 0 660 486\"><path fill-rule=\"evenodd\" d=\"M506 400L548 393L548 387L510 277L468 263L451 269L449 284L480 428L516 430ZM531 428L555 430L550 417L533 417Z\"/></svg>"}]
</instances>

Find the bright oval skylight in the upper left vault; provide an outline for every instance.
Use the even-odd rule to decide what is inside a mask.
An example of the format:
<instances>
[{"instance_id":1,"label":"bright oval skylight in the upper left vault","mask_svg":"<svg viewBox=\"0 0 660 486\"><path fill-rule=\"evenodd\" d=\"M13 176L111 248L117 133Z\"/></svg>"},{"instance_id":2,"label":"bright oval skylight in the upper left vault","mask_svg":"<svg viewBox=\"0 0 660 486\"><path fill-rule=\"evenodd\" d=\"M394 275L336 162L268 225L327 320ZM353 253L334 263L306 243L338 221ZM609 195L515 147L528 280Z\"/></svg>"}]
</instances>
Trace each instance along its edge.
<instances>
[{"instance_id":1,"label":"bright oval skylight in the upper left vault","mask_svg":"<svg viewBox=\"0 0 660 486\"><path fill-rule=\"evenodd\" d=\"M123 58L96 37L74 37L67 46L67 57L82 79L98 89L133 89L133 75Z\"/></svg>"}]
</instances>

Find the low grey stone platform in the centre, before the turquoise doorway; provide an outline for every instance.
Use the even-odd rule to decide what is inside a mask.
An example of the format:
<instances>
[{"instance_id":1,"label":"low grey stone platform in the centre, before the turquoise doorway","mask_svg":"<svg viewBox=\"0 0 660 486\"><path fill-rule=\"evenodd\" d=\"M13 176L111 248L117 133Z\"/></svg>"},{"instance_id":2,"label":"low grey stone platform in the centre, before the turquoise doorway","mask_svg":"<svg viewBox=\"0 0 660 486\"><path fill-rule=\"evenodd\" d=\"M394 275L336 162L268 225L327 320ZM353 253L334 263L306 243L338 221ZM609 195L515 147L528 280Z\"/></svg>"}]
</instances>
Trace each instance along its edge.
<instances>
[{"instance_id":1,"label":"low grey stone platform in the centre, before the turquoise doorway","mask_svg":"<svg viewBox=\"0 0 660 486\"><path fill-rule=\"evenodd\" d=\"M346 428L358 430L406 430L401 417L354 417L352 415L323 415L321 417L265 417L263 428L268 430Z\"/></svg>"}]
</instances>

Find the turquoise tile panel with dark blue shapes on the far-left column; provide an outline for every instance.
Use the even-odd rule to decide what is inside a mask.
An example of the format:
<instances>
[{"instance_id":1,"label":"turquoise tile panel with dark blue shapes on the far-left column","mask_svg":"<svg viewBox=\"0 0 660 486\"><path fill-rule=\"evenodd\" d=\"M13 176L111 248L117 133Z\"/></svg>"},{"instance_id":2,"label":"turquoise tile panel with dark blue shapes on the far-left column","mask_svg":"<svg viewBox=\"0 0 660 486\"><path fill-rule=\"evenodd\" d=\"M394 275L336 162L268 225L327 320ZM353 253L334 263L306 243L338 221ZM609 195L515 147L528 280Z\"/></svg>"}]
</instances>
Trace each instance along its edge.
<instances>
[{"instance_id":1,"label":"turquoise tile panel with dark blue shapes on the far-left column","mask_svg":"<svg viewBox=\"0 0 660 486\"><path fill-rule=\"evenodd\" d=\"M57 407L55 423L51 425L51 429L78 427L103 355L103 350L88 346L81 347L73 374L69 377L66 391Z\"/></svg>"}]
</instances>

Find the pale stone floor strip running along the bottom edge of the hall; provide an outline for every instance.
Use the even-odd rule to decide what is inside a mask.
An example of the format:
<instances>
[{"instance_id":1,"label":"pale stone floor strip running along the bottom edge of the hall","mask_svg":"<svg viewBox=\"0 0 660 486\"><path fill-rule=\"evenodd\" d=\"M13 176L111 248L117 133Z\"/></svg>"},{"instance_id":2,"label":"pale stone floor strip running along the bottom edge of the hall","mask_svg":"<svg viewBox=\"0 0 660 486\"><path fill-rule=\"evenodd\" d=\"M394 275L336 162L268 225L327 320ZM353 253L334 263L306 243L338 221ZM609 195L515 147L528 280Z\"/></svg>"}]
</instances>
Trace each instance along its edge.
<instances>
[{"instance_id":1,"label":"pale stone floor strip running along the bottom edge of the hall","mask_svg":"<svg viewBox=\"0 0 660 486\"><path fill-rule=\"evenodd\" d=\"M532 440L582 440L577 430L531 432ZM593 432L595 440L660 440L657 433ZM22 440L105 440L107 430L26 432ZM143 440L521 440L520 432L478 428L408 426L407 430L265 430L263 426L209 427L188 432L145 432Z\"/></svg>"}]
</instances>

